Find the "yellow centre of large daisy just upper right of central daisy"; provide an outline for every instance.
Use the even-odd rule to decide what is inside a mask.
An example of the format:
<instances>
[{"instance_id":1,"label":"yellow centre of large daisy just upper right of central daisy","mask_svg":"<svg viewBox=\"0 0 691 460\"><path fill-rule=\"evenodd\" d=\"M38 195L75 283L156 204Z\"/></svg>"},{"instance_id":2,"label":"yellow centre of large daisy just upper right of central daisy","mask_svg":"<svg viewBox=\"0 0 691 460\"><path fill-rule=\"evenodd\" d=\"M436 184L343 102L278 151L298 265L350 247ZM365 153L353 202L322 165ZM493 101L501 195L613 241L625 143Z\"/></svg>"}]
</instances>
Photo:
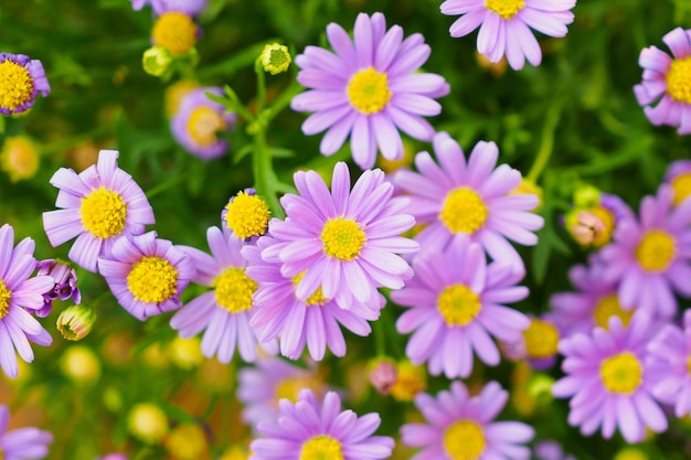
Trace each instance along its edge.
<instances>
[{"instance_id":1,"label":"yellow centre of large daisy just upper right of central daisy","mask_svg":"<svg viewBox=\"0 0 691 460\"><path fill-rule=\"evenodd\" d=\"M461 186L446 195L439 218L451 233L472 235L485 225L487 206L475 191Z\"/></svg>"}]
</instances>

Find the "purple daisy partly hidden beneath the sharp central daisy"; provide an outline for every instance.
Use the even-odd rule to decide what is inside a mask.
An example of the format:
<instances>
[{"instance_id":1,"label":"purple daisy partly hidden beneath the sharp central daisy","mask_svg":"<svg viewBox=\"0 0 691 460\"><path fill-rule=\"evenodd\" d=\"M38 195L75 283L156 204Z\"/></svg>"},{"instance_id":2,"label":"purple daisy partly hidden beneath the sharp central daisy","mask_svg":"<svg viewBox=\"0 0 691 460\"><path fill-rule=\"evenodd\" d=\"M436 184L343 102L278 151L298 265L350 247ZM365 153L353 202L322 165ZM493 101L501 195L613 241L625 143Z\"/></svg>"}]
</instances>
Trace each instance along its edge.
<instances>
[{"instance_id":1,"label":"purple daisy partly hidden beneath the sharp central daisy","mask_svg":"<svg viewBox=\"0 0 691 460\"><path fill-rule=\"evenodd\" d=\"M259 285L254 296L257 309L249 325L263 342L279 338L280 354L291 360L300 359L305 345L315 361L323 359L327 347L336 356L344 356L346 339L339 325L357 335L369 335L372 329L368 321L379 318L386 299L378 293L368 303L354 302L344 310L317 288L307 300L300 300L295 292L304 275L285 277L280 260L262 259L262 252L275 244L274 238L264 236L256 246L243 248L249 264L247 276Z\"/></svg>"}]
</instances>

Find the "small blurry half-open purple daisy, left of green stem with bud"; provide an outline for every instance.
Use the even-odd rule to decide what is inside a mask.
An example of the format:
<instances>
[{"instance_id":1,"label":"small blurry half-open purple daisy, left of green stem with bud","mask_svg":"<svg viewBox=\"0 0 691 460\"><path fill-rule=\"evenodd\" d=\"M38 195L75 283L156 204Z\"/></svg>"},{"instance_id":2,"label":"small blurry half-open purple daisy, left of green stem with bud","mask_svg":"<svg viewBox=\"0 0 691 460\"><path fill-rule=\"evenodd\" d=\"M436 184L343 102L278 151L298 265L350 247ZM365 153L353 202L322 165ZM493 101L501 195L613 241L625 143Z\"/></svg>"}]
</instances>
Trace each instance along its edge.
<instances>
[{"instance_id":1,"label":"small blurry half-open purple daisy, left of green stem with bud","mask_svg":"<svg viewBox=\"0 0 691 460\"><path fill-rule=\"evenodd\" d=\"M211 160L224 156L230 143L219 139L219 132L235 127L237 116L226 114L225 107L211 100L206 93L223 96L217 87L192 89L182 96L178 111L170 120L176 140L193 156Z\"/></svg>"}]
</instances>

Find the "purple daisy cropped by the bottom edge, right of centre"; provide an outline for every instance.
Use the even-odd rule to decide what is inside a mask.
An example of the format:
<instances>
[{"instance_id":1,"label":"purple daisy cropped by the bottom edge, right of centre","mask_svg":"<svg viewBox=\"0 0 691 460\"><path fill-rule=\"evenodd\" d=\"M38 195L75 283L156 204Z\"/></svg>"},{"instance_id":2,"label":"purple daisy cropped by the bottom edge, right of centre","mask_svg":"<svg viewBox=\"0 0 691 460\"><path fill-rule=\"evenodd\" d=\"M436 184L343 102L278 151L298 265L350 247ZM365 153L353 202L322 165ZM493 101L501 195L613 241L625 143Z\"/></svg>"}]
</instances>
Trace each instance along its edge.
<instances>
[{"instance_id":1,"label":"purple daisy cropped by the bottom edge, right of centre","mask_svg":"<svg viewBox=\"0 0 691 460\"><path fill-rule=\"evenodd\" d=\"M497 382L489 382L477 396L470 396L463 382L437 397L415 396L415 406L427 424L401 427L403 443L422 448L411 460L529 460L534 430L520 421L493 421L509 399Z\"/></svg>"}]
</instances>

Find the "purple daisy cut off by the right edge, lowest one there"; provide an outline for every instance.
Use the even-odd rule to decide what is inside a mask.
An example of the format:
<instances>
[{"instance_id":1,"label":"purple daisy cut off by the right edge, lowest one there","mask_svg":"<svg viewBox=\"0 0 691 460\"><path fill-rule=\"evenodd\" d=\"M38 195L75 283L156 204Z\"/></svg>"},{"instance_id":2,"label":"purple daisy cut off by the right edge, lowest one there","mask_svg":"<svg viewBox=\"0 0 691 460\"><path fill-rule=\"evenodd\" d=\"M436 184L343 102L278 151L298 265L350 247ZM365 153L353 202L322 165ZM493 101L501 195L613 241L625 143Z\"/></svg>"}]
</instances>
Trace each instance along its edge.
<instances>
[{"instance_id":1,"label":"purple daisy cut off by the right edge, lowest one there","mask_svg":"<svg viewBox=\"0 0 691 460\"><path fill-rule=\"evenodd\" d=\"M652 388L658 400L674 406L674 415L682 418L691 413L691 310L683 317L683 329L667 324L648 343L648 367L660 379Z\"/></svg>"}]
</instances>

